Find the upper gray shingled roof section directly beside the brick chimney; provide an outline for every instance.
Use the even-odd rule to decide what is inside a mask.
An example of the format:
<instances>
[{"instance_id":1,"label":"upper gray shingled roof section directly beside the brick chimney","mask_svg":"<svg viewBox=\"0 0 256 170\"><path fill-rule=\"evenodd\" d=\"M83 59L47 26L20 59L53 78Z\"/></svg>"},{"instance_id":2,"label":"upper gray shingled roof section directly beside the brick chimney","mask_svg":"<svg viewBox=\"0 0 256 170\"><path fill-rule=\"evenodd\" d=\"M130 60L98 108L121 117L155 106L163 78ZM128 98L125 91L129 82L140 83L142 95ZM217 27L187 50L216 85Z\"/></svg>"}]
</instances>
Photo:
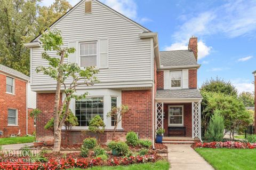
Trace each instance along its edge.
<instances>
[{"instance_id":1,"label":"upper gray shingled roof section directly beside the brick chimney","mask_svg":"<svg viewBox=\"0 0 256 170\"><path fill-rule=\"evenodd\" d=\"M160 64L164 67L196 65L194 53L189 50L161 51Z\"/></svg>"}]
</instances>

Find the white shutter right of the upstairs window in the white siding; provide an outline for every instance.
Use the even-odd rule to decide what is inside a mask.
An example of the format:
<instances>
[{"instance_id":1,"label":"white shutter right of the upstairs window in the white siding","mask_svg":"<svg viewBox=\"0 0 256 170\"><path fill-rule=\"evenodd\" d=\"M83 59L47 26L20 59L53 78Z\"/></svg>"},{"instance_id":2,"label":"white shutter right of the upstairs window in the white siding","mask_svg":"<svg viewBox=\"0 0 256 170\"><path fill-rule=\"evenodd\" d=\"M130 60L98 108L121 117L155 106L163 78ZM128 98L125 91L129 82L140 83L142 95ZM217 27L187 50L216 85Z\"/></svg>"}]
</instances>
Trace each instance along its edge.
<instances>
[{"instance_id":1,"label":"white shutter right of the upstairs window in the white siding","mask_svg":"<svg viewBox=\"0 0 256 170\"><path fill-rule=\"evenodd\" d=\"M100 39L99 68L108 68L108 39Z\"/></svg>"}]
</instances>

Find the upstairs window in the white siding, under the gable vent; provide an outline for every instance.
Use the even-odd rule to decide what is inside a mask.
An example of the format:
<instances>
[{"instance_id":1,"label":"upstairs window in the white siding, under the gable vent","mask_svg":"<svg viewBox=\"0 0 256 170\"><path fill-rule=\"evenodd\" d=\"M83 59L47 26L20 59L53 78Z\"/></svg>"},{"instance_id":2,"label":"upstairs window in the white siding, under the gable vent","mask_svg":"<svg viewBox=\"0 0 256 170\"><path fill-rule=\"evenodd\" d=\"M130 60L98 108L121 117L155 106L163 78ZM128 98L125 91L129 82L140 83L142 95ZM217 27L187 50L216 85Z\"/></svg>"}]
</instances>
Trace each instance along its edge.
<instances>
[{"instance_id":1,"label":"upstairs window in the white siding, under the gable vent","mask_svg":"<svg viewBox=\"0 0 256 170\"><path fill-rule=\"evenodd\" d=\"M97 42L80 43L80 67L97 66Z\"/></svg>"}]
</instances>

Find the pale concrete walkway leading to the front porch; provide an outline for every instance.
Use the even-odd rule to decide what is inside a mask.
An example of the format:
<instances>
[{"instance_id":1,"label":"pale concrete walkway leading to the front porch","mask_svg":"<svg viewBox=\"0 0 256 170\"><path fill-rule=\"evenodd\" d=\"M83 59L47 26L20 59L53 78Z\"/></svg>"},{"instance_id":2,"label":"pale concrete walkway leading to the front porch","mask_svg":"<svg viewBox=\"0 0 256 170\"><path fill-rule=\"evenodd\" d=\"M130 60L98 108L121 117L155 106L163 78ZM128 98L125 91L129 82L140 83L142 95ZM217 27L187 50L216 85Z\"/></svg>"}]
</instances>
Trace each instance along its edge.
<instances>
[{"instance_id":1,"label":"pale concrete walkway leading to the front porch","mask_svg":"<svg viewBox=\"0 0 256 170\"><path fill-rule=\"evenodd\" d=\"M166 144L171 170L214 170L190 144Z\"/></svg>"}]
</instances>

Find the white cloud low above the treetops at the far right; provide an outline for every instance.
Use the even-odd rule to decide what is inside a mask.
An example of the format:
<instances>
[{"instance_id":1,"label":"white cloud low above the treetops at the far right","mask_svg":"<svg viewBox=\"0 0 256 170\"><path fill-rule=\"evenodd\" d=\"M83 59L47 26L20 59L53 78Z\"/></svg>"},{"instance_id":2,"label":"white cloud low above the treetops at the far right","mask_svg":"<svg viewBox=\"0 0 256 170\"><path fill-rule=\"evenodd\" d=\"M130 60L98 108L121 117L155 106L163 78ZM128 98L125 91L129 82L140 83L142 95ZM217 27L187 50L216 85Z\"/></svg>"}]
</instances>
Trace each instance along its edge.
<instances>
[{"instance_id":1,"label":"white cloud low above the treetops at the far right","mask_svg":"<svg viewBox=\"0 0 256 170\"><path fill-rule=\"evenodd\" d=\"M238 90L239 93L241 92L253 92L254 91L254 85L250 80L247 79L234 79L230 81Z\"/></svg>"}]
</instances>

